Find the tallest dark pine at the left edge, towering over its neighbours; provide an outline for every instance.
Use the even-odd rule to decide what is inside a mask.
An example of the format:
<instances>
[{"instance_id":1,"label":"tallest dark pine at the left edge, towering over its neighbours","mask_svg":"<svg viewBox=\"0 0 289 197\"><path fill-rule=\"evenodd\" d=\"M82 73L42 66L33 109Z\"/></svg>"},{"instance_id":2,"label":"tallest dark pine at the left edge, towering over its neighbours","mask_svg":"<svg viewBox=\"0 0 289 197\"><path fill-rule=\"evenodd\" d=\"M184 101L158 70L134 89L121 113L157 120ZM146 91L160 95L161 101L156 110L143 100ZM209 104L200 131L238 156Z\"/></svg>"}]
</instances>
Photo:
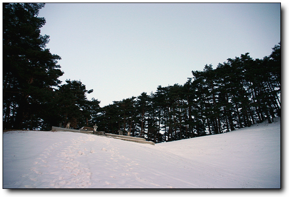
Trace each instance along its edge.
<instances>
[{"instance_id":1,"label":"tallest dark pine at the left edge, towering over its neighbours","mask_svg":"<svg viewBox=\"0 0 289 197\"><path fill-rule=\"evenodd\" d=\"M3 5L3 127L39 126L42 105L49 102L53 88L63 75L57 60L40 35L44 18L37 17L44 4Z\"/></svg>"}]
</instances>

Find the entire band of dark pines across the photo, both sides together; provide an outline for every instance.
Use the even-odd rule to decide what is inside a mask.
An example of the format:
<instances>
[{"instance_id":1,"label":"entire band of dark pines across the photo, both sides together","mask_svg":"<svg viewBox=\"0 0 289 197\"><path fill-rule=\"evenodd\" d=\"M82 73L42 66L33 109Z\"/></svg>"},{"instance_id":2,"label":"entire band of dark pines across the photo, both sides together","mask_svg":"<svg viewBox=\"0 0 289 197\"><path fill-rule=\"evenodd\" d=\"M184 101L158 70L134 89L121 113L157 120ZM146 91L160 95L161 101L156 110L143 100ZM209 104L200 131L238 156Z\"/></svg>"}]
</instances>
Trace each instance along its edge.
<instances>
[{"instance_id":1,"label":"entire band of dark pines across the photo, both sides together","mask_svg":"<svg viewBox=\"0 0 289 197\"><path fill-rule=\"evenodd\" d=\"M192 71L183 85L158 86L99 107L88 101L80 81L67 80L40 35L43 4L3 6L3 128L50 130L51 126L93 126L107 133L130 131L154 142L219 134L280 116L280 43L270 56L253 60L249 53Z\"/></svg>"}]
</instances>

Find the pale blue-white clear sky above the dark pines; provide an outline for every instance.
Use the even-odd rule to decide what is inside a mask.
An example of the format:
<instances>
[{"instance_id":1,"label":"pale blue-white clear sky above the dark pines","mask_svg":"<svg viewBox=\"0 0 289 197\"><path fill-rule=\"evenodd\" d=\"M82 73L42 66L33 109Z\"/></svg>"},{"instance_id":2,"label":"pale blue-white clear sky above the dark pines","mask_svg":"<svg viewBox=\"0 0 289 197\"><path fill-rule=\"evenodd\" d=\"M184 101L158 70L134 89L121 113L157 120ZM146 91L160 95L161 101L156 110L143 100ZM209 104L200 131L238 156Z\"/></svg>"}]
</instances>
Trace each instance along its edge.
<instances>
[{"instance_id":1,"label":"pale blue-white clear sky above the dark pines","mask_svg":"<svg viewBox=\"0 0 289 197\"><path fill-rule=\"evenodd\" d=\"M38 17L59 79L80 80L101 107L183 85L206 64L262 59L281 39L279 3L47 3Z\"/></svg>"}]
</instances>

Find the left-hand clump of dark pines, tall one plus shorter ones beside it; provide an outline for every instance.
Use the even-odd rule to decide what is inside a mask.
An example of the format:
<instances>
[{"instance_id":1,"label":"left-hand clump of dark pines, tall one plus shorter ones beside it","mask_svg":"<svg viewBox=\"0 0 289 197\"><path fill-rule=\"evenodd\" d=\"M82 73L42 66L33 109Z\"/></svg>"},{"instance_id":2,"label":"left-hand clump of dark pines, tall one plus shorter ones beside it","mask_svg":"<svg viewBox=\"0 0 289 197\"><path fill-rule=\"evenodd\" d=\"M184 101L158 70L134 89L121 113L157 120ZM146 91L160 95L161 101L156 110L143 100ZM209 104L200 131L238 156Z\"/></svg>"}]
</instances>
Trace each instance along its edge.
<instances>
[{"instance_id":1,"label":"left-hand clump of dark pines, tall one plus shorter ones beside it","mask_svg":"<svg viewBox=\"0 0 289 197\"><path fill-rule=\"evenodd\" d=\"M87 101L85 85L67 80L46 48L48 35L40 35L44 4L3 4L3 129L43 129L71 122L88 125L99 107Z\"/></svg>"}]
</instances>

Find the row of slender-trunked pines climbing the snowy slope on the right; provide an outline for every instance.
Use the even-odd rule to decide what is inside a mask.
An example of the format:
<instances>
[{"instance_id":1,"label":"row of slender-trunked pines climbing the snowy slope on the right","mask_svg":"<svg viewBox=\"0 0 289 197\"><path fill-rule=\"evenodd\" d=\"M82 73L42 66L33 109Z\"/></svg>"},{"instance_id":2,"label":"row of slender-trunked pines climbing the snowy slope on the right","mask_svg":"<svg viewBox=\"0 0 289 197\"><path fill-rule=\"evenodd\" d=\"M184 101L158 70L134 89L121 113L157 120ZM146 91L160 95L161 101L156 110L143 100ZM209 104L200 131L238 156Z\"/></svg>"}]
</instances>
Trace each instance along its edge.
<instances>
[{"instance_id":1,"label":"row of slender-trunked pines climbing the snowy slope on the right","mask_svg":"<svg viewBox=\"0 0 289 197\"><path fill-rule=\"evenodd\" d=\"M101 130L130 130L154 142L229 132L280 116L280 43L272 54L249 53L192 71L184 85L158 86L155 93L114 102L96 119Z\"/></svg>"}]
</instances>

